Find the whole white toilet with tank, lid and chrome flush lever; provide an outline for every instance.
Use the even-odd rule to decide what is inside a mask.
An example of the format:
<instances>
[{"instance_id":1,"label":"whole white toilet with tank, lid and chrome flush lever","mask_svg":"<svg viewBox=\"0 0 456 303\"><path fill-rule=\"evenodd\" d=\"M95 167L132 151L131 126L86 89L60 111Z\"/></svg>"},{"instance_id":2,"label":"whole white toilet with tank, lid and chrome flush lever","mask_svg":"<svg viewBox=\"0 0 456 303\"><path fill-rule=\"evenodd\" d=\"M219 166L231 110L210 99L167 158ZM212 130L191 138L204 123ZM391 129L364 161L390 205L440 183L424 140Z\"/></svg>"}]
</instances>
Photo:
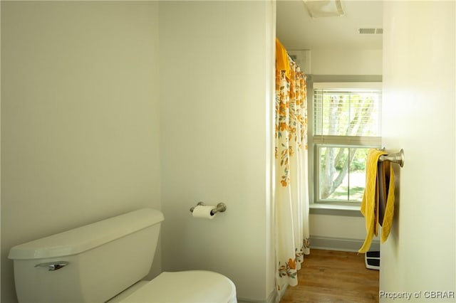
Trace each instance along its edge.
<instances>
[{"instance_id":1,"label":"whole white toilet with tank, lid and chrome flush lever","mask_svg":"<svg viewBox=\"0 0 456 303\"><path fill-rule=\"evenodd\" d=\"M223 302L236 287L217 272L148 274L163 214L143 208L16 245L14 281L19 302Z\"/></svg>"}]
</instances>

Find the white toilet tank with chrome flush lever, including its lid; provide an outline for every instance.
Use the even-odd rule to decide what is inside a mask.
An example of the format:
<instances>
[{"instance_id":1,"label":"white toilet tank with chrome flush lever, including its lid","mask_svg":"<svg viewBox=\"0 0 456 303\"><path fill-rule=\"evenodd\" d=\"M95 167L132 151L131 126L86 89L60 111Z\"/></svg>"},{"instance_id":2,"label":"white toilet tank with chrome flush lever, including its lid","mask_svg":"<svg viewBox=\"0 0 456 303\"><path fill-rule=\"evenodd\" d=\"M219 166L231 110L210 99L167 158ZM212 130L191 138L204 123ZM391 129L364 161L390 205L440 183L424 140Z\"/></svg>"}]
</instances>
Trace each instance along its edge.
<instances>
[{"instance_id":1,"label":"white toilet tank with chrome flush lever, including its lid","mask_svg":"<svg viewBox=\"0 0 456 303\"><path fill-rule=\"evenodd\" d=\"M143 208L14 246L19 302L105 302L148 274L160 211Z\"/></svg>"}]
</instances>

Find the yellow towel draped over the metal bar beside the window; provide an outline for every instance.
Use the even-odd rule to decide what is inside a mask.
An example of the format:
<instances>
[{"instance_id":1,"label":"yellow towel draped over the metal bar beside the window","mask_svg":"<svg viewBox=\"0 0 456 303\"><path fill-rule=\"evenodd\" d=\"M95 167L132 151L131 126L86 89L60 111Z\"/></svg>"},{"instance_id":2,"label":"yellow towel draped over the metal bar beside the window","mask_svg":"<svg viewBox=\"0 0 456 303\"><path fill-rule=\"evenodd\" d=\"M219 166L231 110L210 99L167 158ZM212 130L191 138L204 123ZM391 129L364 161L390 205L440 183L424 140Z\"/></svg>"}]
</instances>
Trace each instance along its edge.
<instances>
[{"instance_id":1,"label":"yellow towel draped over the metal bar beside the window","mask_svg":"<svg viewBox=\"0 0 456 303\"><path fill-rule=\"evenodd\" d=\"M387 154L385 151L378 149L369 149L368 159L366 161L366 189L364 190L363 202L361 203L361 213L366 218L366 240L364 240L363 246L358 252L367 252L371 247L373 235L378 235L378 203L379 203L379 186L385 186L385 184L379 184L378 179L378 159L380 156ZM393 222L394 213L394 172L393 167L390 166L389 174L385 173L383 180L389 177L389 188L386 195L386 208L385 216L382 222L382 234L381 242L385 242L386 238L390 233L391 223ZM387 169L383 170L383 172Z\"/></svg>"}]
</instances>

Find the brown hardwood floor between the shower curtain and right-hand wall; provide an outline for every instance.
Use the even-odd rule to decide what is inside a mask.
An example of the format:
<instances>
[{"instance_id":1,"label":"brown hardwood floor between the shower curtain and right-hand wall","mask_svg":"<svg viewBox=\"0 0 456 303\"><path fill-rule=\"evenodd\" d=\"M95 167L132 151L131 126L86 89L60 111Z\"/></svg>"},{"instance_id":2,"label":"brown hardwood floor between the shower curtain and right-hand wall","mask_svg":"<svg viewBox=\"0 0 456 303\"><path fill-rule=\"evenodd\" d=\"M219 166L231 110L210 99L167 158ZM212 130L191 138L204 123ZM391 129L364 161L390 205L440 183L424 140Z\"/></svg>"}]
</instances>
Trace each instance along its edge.
<instances>
[{"instance_id":1,"label":"brown hardwood floor between the shower curtain and right-hand wall","mask_svg":"<svg viewBox=\"0 0 456 303\"><path fill-rule=\"evenodd\" d=\"M364 254L311 250L280 302L378 302L378 270L368 270Z\"/></svg>"}]
</instances>

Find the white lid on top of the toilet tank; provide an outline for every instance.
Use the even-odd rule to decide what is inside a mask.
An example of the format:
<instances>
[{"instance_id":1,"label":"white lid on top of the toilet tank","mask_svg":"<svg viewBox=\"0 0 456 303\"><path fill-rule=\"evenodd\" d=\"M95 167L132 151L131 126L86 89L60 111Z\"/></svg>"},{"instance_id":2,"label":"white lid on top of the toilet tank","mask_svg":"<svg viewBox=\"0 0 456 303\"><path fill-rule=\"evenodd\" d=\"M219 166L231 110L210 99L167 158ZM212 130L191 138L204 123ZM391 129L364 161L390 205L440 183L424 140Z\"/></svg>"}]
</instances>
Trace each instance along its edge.
<instances>
[{"instance_id":1,"label":"white lid on top of the toilet tank","mask_svg":"<svg viewBox=\"0 0 456 303\"><path fill-rule=\"evenodd\" d=\"M9 259L29 260L76 255L165 220L162 212L142 208L46 238L16 245Z\"/></svg>"}]
</instances>

